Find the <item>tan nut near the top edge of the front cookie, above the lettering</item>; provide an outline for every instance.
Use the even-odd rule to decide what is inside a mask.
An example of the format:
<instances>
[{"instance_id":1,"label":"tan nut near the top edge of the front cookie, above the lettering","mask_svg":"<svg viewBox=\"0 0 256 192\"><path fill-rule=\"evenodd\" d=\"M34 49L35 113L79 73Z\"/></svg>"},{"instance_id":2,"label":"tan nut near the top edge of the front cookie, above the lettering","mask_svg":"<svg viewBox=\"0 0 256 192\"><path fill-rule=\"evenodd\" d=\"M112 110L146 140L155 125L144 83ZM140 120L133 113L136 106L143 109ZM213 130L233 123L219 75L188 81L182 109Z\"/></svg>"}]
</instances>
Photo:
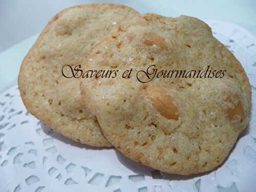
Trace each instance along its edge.
<instances>
[{"instance_id":1,"label":"tan nut near the top edge of the front cookie, above the lettering","mask_svg":"<svg viewBox=\"0 0 256 192\"><path fill-rule=\"evenodd\" d=\"M165 39L162 36L157 35L156 33L145 33L144 35L144 44L147 46L159 46L161 49L167 49Z\"/></svg>"}]
</instances>

